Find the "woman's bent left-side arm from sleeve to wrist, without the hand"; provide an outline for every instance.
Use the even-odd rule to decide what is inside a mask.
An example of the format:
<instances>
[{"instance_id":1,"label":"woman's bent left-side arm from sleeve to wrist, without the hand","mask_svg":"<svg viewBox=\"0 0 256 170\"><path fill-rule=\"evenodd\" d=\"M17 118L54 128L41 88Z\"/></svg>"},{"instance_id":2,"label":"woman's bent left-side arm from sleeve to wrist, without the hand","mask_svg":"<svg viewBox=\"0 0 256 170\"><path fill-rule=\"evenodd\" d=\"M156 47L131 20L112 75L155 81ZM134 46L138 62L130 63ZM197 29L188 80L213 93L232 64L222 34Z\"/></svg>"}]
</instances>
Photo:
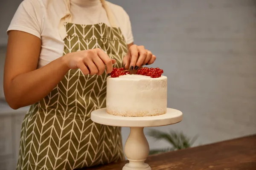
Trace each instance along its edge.
<instances>
[{"instance_id":1,"label":"woman's bent left-side arm from sleeve to wrist, without the hand","mask_svg":"<svg viewBox=\"0 0 256 170\"><path fill-rule=\"evenodd\" d=\"M10 31L4 68L4 94L13 109L31 105L47 96L69 68L62 58L36 69L41 40L22 31Z\"/></svg>"}]
</instances>

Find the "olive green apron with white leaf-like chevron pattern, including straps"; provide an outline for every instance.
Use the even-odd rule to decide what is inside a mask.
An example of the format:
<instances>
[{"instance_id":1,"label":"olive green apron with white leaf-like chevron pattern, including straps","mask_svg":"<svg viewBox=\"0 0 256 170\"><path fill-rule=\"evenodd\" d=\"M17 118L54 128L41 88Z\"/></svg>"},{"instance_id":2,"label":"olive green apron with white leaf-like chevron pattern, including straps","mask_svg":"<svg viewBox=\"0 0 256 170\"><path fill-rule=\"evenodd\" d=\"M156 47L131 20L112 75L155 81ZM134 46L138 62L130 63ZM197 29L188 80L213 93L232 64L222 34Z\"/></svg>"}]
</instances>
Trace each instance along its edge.
<instances>
[{"instance_id":1,"label":"olive green apron with white leaf-like chevron pattern, including straps","mask_svg":"<svg viewBox=\"0 0 256 170\"><path fill-rule=\"evenodd\" d=\"M104 0L102 5L111 27L66 22L71 19L68 13L61 19L64 54L101 48L116 59L115 67L121 67L127 44ZM91 111L106 107L106 78L106 71L102 76L85 76L72 69L30 107L22 123L17 170L73 170L124 159L120 127L90 119Z\"/></svg>"}]
</instances>

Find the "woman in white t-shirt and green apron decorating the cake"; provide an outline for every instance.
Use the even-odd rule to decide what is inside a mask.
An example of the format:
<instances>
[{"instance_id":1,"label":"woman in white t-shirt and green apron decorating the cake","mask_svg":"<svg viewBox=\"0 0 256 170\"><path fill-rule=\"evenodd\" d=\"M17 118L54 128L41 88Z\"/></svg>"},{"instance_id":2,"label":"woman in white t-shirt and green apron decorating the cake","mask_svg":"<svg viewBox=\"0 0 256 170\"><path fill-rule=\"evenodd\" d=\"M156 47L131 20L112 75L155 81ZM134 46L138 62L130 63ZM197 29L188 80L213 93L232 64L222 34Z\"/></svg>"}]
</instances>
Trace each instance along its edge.
<instances>
[{"instance_id":1,"label":"woman in white t-shirt and green apron decorating the cake","mask_svg":"<svg viewBox=\"0 0 256 170\"><path fill-rule=\"evenodd\" d=\"M24 0L8 34L6 101L13 109L31 105L17 170L73 170L123 159L120 128L95 124L90 113L106 106L113 67L136 71L156 59L133 45L126 12L104 0Z\"/></svg>"}]
</instances>

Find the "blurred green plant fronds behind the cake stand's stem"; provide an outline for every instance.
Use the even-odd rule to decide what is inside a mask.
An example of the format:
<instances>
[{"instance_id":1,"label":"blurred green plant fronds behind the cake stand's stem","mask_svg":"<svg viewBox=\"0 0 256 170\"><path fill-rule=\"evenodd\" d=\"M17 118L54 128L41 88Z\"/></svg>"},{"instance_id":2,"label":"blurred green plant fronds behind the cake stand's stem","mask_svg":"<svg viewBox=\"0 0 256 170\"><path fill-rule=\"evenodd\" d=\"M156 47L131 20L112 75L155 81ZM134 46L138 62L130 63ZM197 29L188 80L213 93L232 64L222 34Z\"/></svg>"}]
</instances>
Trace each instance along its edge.
<instances>
[{"instance_id":1,"label":"blurred green plant fronds behind the cake stand's stem","mask_svg":"<svg viewBox=\"0 0 256 170\"><path fill-rule=\"evenodd\" d=\"M197 136L190 139L189 137L185 136L182 132L175 132L170 130L169 133L162 132L160 130L149 130L148 136L154 138L156 141L164 140L171 144L170 147L162 148L162 149L154 149L149 151L149 155L169 152L173 150L180 150L191 147L192 144L197 139Z\"/></svg>"}]
</instances>

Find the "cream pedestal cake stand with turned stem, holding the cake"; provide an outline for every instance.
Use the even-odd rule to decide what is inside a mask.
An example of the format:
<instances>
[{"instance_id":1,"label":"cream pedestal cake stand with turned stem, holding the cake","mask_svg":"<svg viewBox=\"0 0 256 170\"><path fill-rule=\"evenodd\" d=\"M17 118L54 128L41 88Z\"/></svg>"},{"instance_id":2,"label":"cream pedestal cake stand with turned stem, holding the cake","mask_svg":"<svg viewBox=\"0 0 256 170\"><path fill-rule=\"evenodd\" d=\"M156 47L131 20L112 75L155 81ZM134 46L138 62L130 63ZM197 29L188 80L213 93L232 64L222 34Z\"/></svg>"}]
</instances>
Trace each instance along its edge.
<instances>
[{"instance_id":1,"label":"cream pedestal cake stand with turned stem, holding the cake","mask_svg":"<svg viewBox=\"0 0 256 170\"><path fill-rule=\"evenodd\" d=\"M130 134L125 142L125 156L129 163L122 170L151 170L144 161L148 157L149 145L144 135L144 127L165 126L178 123L182 120L182 112L167 108L167 113L159 116L125 117L114 116L106 112L106 108L91 113L93 122L119 127L130 127Z\"/></svg>"}]
</instances>

